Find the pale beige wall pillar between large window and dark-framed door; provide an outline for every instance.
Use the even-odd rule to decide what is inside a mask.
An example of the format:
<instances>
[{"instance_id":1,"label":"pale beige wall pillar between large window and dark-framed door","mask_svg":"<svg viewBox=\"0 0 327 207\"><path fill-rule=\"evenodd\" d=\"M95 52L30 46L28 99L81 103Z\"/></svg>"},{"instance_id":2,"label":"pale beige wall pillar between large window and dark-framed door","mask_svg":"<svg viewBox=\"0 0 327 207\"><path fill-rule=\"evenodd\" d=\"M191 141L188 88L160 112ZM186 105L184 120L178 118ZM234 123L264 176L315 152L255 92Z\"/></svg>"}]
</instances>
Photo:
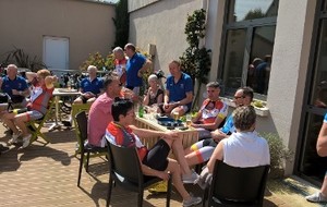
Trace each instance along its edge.
<instances>
[{"instance_id":1,"label":"pale beige wall pillar between large window and dark-framed door","mask_svg":"<svg viewBox=\"0 0 327 207\"><path fill-rule=\"evenodd\" d=\"M267 101L274 126L294 151L299 139L314 10L315 1L279 1ZM291 170L292 165L289 165L287 172Z\"/></svg>"}]
</instances>

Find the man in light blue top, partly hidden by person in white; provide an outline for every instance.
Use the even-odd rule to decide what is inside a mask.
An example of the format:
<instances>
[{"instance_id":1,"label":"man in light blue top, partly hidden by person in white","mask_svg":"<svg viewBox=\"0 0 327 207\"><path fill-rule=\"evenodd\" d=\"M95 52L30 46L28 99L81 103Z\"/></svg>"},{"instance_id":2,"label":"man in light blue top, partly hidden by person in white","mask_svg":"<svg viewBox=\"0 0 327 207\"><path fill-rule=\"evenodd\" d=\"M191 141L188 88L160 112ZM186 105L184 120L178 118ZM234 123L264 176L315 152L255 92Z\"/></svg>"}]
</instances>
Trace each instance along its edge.
<instances>
[{"instance_id":1,"label":"man in light blue top, partly hidden by person in white","mask_svg":"<svg viewBox=\"0 0 327 207\"><path fill-rule=\"evenodd\" d=\"M250 87L241 87L235 92L234 102L237 108L250 106L252 99L253 90ZM190 166L194 166L207 161L211 157L217 144L221 139L229 137L233 132L235 132L235 127L233 117L231 114L227 118L221 129L217 129L210 133L211 138L199 141L184 150L187 163Z\"/></svg>"}]
</instances>

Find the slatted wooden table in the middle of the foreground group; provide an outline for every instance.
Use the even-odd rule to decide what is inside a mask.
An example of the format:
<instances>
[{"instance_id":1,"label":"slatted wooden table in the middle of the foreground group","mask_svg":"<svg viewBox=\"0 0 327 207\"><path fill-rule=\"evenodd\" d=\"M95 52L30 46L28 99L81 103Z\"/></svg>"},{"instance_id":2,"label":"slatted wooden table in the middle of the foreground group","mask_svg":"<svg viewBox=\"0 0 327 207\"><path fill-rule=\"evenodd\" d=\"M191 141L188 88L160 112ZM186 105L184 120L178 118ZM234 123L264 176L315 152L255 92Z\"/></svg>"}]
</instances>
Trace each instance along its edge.
<instances>
[{"instance_id":1,"label":"slatted wooden table in the middle of the foreground group","mask_svg":"<svg viewBox=\"0 0 327 207\"><path fill-rule=\"evenodd\" d=\"M140 118L136 115L135 119L135 125L137 127L142 129L149 129L149 130L156 130L156 131L162 131L168 132L170 130L167 129L167 126L158 124L157 120L149 119L148 114L145 114L144 118ZM180 138L183 139L183 147L190 147L192 144L196 143L198 141L198 132L191 127L189 130L182 131L178 127L174 130L179 133ZM146 147L152 147L160 137L154 137L154 138L142 138L140 137L142 143Z\"/></svg>"}]
</instances>

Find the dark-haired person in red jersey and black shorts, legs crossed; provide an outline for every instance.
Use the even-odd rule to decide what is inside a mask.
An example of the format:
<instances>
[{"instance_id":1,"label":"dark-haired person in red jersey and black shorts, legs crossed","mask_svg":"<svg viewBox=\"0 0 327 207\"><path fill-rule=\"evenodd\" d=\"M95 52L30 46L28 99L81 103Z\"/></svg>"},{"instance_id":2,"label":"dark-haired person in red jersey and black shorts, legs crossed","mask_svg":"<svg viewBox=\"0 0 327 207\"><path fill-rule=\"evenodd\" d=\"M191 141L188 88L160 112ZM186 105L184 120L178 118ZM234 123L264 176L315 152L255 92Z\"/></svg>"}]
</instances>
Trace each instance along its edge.
<instances>
[{"instance_id":1,"label":"dark-haired person in red jersey and black shorts, legs crossed","mask_svg":"<svg viewBox=\"0 0 327 207\"><path fill-rule=\"evenodd\" d=\"M181 174L191 174L191 170L183 155L182 139L175 132L158 132L132 126L135 113L133 102L126 99L117 99L112 104L113 122L108 124L106 138L119 146L136 147L144 174L158 176L168 180L170 171L172 183L183 197L183 206L193 206L202 202L201 197L190 195L182 183ZM138 136L150 138L162 136L152 149L147 149L140 141ZM170 149L179 160L168 158Z\"/></svg>"}]
</instances>

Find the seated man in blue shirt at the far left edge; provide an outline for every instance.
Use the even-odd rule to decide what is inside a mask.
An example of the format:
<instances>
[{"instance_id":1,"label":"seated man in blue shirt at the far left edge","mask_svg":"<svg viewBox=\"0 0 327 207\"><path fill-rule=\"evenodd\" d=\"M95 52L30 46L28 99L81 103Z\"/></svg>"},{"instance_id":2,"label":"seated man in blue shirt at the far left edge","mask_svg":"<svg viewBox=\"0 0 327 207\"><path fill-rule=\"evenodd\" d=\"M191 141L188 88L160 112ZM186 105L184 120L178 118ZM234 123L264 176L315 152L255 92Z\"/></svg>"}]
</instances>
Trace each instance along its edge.
<instances>
[{"instance_id":1,"label":"seated man in blue shirt at the far left edge","mask_svg":"<svg viewBox=\"0 0 327 207\"><path fill-rule=\"evenodd\" d=\"M7 76L0 78L0 87L3 93L7 93L13 104L24 105L25 96L29 95L29 89L26 80L17 76L17 66L9 64L7 68Z\"/></svg>"}]
</instances>

